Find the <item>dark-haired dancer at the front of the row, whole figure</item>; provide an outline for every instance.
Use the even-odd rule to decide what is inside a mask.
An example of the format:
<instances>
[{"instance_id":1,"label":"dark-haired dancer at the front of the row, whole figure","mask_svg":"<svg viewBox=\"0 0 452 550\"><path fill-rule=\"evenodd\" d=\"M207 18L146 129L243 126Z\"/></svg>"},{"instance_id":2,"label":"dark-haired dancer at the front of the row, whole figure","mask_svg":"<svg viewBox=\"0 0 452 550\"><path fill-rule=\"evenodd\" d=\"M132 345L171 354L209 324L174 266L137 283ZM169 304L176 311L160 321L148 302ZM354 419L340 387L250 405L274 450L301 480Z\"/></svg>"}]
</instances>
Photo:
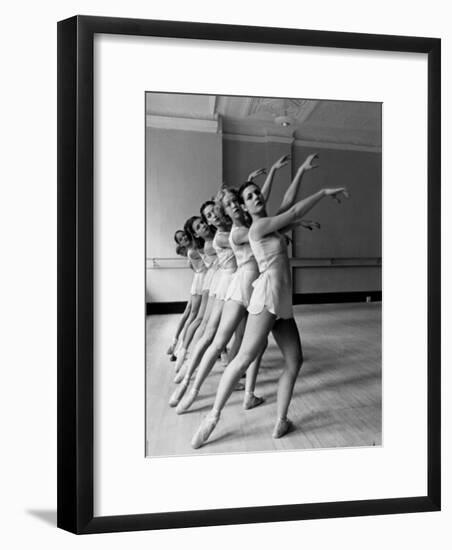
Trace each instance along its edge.
<instances>
[{"instance_id":1,"label":"dark-haired dancer at the front of the row, whole figure","mask_svg":"<svg viewBox=\"0 0 452 550\"><path fill-rule=\"evenodd\" d=\"M278 382L277 419L272 437L282 437L292 428L287 411L303 362L303 353L293 318L290 263L282 233L297 226L301 218L325 197L332 197L338 202L341 197L348 197L343 187L322 189L300 200L285 212L268 216L265 200L256 184L246 183L239 191L244 209L252 218L248 238L260 275L254 283L248 306L249 315L242 345L223 373L212 410L193 436L191 444L195 449L205 444L215 429L235 382L261 352L270 332L285 359L284 370Z\"/></svg>"}]
</instances>

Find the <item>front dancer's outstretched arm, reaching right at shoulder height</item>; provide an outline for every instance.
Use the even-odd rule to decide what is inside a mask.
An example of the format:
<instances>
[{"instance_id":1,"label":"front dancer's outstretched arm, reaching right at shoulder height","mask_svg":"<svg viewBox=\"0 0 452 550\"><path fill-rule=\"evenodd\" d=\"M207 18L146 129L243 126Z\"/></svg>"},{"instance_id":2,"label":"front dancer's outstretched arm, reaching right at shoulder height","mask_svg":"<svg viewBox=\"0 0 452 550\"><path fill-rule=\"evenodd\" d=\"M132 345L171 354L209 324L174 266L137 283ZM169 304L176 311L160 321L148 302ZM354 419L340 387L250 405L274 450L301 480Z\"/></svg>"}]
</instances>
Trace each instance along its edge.
<instances>
[{"instance_id":1,"label":"front dancer's outstretched arm, reaching right at shoulder height","mask_svg":"<svg viewBox=\"0 0 452 550\"><path fill-rule=\"evenodd\" d=\"M340 202L340 198L348 198L348 193L345 187L339 187L335 189L321 189L317 193L310 195L306 199L298 201L294 206L289 208L287 212L278 214L277 216L269 216L261 218L254 222L250 231L253 232L253 238L258 240L264 235L273 233L274 231L280 231L284 228L299 223L302 218L307 214L314 206L319 203L325 197L332 197L336 201Z\"/></svg>"}]
</instances>

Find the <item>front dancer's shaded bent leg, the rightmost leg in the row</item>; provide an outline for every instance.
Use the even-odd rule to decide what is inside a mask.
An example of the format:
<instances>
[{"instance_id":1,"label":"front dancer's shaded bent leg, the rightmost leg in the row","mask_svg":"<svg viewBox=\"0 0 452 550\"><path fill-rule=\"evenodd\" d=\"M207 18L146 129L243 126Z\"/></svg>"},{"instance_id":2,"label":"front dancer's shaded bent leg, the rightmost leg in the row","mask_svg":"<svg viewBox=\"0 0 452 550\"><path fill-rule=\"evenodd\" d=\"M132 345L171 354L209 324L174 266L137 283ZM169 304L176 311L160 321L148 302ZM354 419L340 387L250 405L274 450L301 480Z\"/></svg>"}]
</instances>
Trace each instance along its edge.
<instances>
[{"instance_id":1,"label":"front dancer's shaded bent leg, the rightmost leg in the row","mask_svg":"<svg viewBox=\"0 0 452 550\"><path fill-rule=\"evenodd\" d=\"M285 366L279 378L277 393L277 419L273 437L282 437L291 427L287 411L301 365L303 351L300 335L294 319L278 319L273 327L273 336L284 356Z\"/></svg>"}]
</instances>

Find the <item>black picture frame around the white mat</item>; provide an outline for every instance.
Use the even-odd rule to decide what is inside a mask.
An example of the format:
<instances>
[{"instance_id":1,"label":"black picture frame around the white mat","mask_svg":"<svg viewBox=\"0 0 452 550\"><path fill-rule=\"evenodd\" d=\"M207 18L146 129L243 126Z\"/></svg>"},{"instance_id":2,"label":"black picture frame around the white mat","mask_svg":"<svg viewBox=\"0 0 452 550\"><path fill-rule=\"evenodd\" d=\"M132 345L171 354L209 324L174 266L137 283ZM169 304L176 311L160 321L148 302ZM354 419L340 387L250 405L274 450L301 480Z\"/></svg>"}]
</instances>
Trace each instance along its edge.
<instances>
[{"instance_id":1,"label":"black picture frame around the white mat","mask_svg":"<svg viewBox=\"0 0 452 550\"><path fill-rule=\"evenodd\" d=\"M95 33L428 55L428 490L413 498L94 517L93 39ZM104 533L440 510L441 41L75 16L58 23L58 526ZM144 307L144 304L143 304Z\"/></svg>"}]
</instances>

